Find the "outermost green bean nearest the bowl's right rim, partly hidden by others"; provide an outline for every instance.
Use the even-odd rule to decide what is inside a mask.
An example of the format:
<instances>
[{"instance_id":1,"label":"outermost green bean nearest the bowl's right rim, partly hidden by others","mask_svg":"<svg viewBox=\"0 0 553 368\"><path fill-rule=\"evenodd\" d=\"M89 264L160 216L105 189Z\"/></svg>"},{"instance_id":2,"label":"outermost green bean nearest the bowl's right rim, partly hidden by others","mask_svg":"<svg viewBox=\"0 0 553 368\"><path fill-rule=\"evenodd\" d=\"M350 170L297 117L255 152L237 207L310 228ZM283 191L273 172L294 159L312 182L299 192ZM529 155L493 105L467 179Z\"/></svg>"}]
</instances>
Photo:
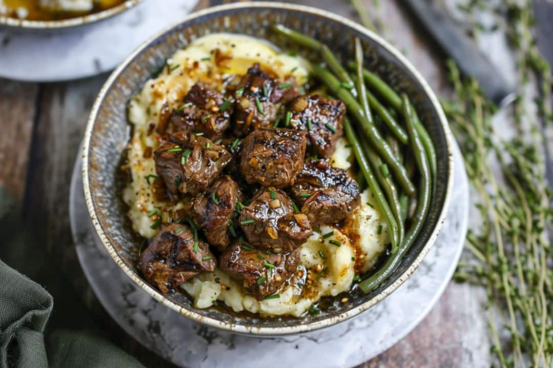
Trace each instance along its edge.
<instances>
[{"instance_id":1,"label":"outermost green bean nearest the bowl's right rim, partly hidden by others","mask_svg":"<svg viewBox=\"0 0 553 368\"><path fill-rule=\"evenodd\" d=\"M352 70L356 69L356 62L349 62L348 67ZM372 72L369 72L366 69L363 69L363 77L365 78L365 81L369 84L369 86L374 89L381 97L383 97L390 106L392 106L394 109L401 111L401 98L395 91L388 86L386 82L384 82L380 77L377 76L377 74L374 74ZM426 152L426 156L428 157L428 161L430 164L430 171L432 173L432 180L434 180L434 183L436 182L436 170L437 170L437 159L436 159L436 150L434 148L434 143L432 143L432 138L430 138L430 135L426 131L424 125L419 120L419 117L416 115L415 110L413 109L413 106L411 106L411 109L414 111L415 114L415 128L419 134L420 140L422 141L422 145L424 145L424 150Z\"/></svg>"}]
</instances>

